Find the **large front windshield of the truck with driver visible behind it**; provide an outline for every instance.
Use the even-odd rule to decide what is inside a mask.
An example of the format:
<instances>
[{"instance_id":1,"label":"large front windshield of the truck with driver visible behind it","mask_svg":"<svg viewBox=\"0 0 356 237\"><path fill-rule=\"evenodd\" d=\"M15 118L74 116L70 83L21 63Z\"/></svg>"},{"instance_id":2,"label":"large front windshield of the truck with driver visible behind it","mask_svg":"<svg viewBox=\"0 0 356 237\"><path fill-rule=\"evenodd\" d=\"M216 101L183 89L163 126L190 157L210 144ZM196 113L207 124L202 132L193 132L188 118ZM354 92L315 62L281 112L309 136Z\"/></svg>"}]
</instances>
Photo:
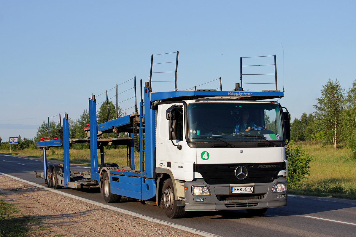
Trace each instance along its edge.
<instances>
[{"instance_id":1,"label":"large front windshield of the truck with driver visible behind it","mask_svg":"<svg viewBox=\"0 0 356 237\"><path fill-rule=\"evenodd\" d=\"M281 111L274 103L188 105L190 141L282 141Z\"/></svg>"}]
</instances>

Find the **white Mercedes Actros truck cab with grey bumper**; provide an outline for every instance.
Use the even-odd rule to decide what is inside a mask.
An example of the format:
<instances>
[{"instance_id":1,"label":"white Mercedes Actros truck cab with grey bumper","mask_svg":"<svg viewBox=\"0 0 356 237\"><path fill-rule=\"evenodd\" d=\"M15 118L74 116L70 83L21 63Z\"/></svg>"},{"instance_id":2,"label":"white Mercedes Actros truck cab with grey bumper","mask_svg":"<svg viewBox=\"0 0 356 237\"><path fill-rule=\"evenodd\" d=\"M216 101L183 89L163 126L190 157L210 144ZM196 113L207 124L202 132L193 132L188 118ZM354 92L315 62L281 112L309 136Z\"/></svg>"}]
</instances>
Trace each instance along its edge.
<instances>
[{"instance_id":1,"label":"white Mercedes Actros truck cab with grey bumper","mask_svg":"<svg viewBox=\"0 0 356 237\"><path fill-rule=\"evenodd\" d=\"M177 215L175 205L252 214L287 205L288 128L278 102L212 98L154 109L156 174L168 174L173 184L163 190L167 215Z\"/></svg>"}]
</instances>

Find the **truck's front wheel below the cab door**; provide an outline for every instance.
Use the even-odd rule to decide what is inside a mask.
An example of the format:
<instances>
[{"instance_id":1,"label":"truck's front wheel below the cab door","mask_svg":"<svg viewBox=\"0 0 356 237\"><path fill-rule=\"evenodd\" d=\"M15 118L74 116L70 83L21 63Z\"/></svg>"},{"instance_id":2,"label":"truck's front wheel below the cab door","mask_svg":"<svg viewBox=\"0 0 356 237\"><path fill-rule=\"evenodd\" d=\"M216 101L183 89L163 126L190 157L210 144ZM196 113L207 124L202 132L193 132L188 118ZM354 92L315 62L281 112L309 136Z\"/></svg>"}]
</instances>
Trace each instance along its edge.
<instances>
[{"instance_id":1,"label":"truck's front wheel below the cab door","mask_svg":"<svg viewBox=\"0 0 356 237\"><path fill-rule=\"evenodd\" d=\"M185 214L184 206L178 206L174 198L172 179L167 179L163 184L163 208L169 218L182 218Z\"/></svg>"}]
</instances>

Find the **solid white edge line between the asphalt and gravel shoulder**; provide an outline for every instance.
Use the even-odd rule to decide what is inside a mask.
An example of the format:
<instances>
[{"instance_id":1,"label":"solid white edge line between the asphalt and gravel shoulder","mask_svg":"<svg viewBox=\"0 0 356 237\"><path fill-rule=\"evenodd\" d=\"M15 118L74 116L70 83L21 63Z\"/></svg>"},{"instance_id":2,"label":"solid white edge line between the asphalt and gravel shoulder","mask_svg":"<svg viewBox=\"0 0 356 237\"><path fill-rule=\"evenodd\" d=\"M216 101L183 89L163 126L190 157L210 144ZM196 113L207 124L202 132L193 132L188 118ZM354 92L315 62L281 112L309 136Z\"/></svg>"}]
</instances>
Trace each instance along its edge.
<instances>
[{"instance_id":1,"label":"solid white edge line between the asphalt and gravel shoulder","mask_svg":"<svg viewBox=\"0 0 356 237\"><path fill-rule=\"evenodd\" d=\"M189 233L193 233L193 234L196 234L196 235L201 235L201 236L204 236L204 237L221 237L219 235L213 235L213 234L205 232L205 231L200 231L200 230L196 230L196 229L193 229L193 228L177 225L177 224L174 224L174 223L171 223L171 222L168 222L168 221L162 221L162 220L159 220L159 219L156 219L156 218L153 218L153 217L149 217L149 216L145 216L145 215L141 215L141 214L138 214L138 213L135 213L135 212L132 212L132 211L127 211L125 209L116 208L114 206L109 206L109 205L106 205L106 204L98 203L96 201L91 201L91 200L85 199L85 198L80 198L80 197L72 195L72 194L63 193L63 192L60 192L60 191L58 191L56 189L43 187L40 184L33 183L33 182L30 182L30 181L27 181L27 180L24 180L24 179L20 179L20 178L17 178L15 176L11 176L9 174L4 174L4 173L1 173L1 172L0 172L0 174L4 175L6 177L10 177L10 178L16 179L16 180L21 181L23 183L27 183L27 184L36 186L36 187L41 188L41 189L45 189L47 191L51 191L53 193L57 193L59 195L67 196L68 198L73 198L73 199L77 199L77 200L80 200L80 201L85 201L87 203L90 203L90 204L93 204L93 205L96 205L96 206L100 206L102 208L110 209L112 211L117 211L117 212L120 212L120 213L125 214L125 215L135 216L135 217L147 220L147 221L155 222L155 223L158 223L158 224L161 224L161 225L166 225L166 226L169 226L169 227L172 227L172 228L176 228L176 229L179 229L179 230L187 231Z\"/></svg>"}]
</instances>

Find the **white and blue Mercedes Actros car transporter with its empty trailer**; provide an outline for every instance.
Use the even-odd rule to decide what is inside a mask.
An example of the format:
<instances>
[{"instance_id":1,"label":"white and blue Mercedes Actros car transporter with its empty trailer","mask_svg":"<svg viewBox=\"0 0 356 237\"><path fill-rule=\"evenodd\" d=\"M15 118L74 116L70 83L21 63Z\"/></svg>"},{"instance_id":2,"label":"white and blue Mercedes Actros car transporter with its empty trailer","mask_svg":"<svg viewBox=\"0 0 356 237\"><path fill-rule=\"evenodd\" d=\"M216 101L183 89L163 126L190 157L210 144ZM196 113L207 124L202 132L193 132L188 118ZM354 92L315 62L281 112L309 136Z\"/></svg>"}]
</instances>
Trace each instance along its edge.
<instances>
[{"instance_id":1,"label":"white and blue Mercedes Actros car transporter with its empty trailer","mask_svg":"<svg viewBox=\"0 0 356 237\"><path fill-rule=\"evenodd\" d=\"M152 66L152 62L151 62ZM142 86L141 86L142 88ZM261 215L267 208L287 205L290 115L272 99L277 90L191 90L152 92L151 81L141 91L138 111L96 126L96 99L89 101L90 128L86 139L70 139L68 116L63 139L37 142L43 149L48 187L99 187L107 203L121 196L163 207L169 218L187 211L246 209ZM120 131L125 139L98 134ZM90 143L90 171L69 170L70 144ZM98 163L97 150L108 145L128 147L127 166ZM46 150L63 146L64 162L47 166ZM140 167L135 167L135 152Z\"/></svg>"}]
</instances>

